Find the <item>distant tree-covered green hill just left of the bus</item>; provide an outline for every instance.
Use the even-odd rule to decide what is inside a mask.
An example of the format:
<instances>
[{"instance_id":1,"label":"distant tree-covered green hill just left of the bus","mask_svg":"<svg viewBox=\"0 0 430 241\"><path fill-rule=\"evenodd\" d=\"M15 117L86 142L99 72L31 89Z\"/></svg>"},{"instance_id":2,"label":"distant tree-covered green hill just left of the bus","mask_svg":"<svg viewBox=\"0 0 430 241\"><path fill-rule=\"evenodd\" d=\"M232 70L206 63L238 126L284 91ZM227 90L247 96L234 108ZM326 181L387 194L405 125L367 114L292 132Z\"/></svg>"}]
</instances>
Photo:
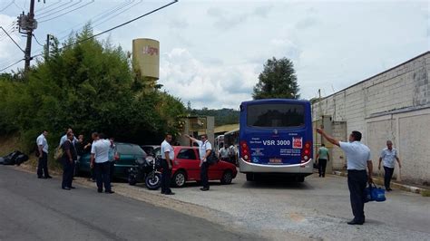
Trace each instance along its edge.
<instances>
[{"instance_id":1,"label":"distant tree-covered green hill just left of the bus","mask_svg":"<svg viewBox=\"0 0 430 241\"><path fill-rule=\"evenodd\" d=\"M190 104L191 106L191 104ZM206 115L215 117L215 126L222 126L228 124L239 123L239 111L233 109L220 109L220 110L209 110L208 108L203 108L201 110L191 110L191 115Z\"/></svg>"}]
</instances>

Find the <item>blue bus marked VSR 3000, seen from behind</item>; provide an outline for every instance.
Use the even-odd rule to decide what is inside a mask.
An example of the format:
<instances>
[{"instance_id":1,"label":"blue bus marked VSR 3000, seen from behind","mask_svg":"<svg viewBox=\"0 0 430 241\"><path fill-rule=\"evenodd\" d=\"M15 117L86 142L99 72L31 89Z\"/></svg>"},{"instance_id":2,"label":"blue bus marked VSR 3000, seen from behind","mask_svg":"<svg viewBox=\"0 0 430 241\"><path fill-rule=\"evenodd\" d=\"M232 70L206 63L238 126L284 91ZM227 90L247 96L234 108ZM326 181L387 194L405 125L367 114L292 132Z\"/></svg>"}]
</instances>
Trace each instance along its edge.
<instances>
[{"instance_id":1,"label":"blue bus marked VSR 3000, seen from behind","mask_svg":"<svg viewBox=\"0 0 430 241\"><path fill-rule=\"evenodd\" d=\"M312 174L309 101L266 99L240 105L239 169L247 180L286 174L299 182Z\"/></svg>"}]
</instances>

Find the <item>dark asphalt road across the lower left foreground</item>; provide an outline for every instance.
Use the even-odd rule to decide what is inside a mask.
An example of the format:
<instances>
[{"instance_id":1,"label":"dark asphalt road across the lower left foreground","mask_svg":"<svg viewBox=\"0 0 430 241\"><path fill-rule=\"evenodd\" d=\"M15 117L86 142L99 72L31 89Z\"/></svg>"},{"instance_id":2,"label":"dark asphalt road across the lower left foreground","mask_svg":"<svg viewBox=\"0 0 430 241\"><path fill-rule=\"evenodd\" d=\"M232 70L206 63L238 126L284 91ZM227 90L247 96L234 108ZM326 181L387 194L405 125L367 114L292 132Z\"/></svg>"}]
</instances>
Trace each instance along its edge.
<instances>
[{"instance_id":1,"label":"dark asphalt road across the lower left foreground","mask_svg":"<svg viewBox=\"0 0 430 241\"><path fill-rule=\"evenodd\" d=\"M0 240L252 239L198 217L75 186L66 191L58 178L0 166Z\"/></svg>"}]
</instances>

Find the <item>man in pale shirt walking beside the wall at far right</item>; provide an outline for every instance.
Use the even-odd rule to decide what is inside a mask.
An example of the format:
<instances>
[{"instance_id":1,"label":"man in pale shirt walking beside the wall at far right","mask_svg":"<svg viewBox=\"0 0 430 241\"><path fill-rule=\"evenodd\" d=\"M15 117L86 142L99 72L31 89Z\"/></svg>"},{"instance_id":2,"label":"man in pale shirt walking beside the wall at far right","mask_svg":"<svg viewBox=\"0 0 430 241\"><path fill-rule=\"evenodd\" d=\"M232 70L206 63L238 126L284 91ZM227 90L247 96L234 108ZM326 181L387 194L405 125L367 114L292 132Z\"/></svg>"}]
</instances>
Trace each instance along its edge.
<instances>
[{"instance_id":1,"label":"man in pale shirt walking beside the wall at far right","mask_svg":"<svg viewBox=\"0 0 430 241\"><path fill-rule=\"evenodd\" d=\"M397 156L397 149L393 148L393 142L391 142L391 140L386 140L386 149L382 150L381 156L379 157L379 166L377 167L377 169L381 169L381 161L384 160L384 185L386 186L386 191L393 190L390 188L390 182L391 178L393 178L395 159L398 162L398 168L401 169L402 164L400 164L400 159Z\"/></svg>"}]
</instances>

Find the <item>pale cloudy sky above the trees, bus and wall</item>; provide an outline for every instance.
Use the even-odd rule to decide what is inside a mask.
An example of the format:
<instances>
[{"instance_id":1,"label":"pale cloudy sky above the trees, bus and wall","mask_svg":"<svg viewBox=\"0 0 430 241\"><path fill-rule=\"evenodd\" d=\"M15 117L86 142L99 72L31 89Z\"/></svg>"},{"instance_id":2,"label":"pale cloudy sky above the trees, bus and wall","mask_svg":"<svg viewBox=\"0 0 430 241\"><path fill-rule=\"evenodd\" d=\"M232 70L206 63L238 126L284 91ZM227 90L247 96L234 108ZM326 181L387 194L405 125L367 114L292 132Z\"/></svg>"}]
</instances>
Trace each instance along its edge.
<instances>
[{"instance_id":1,"label":"pale cloudy sky above the trees, bus and wall","mask_svg":"<svg viewBox=\"0 0 430 241\"><path fill-rule=\"evenodd\" d=\"M29 2L0 0L0 26L23 49L11 24ZM34 35L42 44L46 34L64 41L88 21L97 34L170 2L36 0ZM311 99L318 89L327 96L429 51L430 1L180 0L98 37L126 51L135 38L160 41L162 90L192 108L238 109L272 57L294 63L301 98ZM32 48L41 53L35 41ZM0 69L23 56L0 33ZM17 68L24 62L4 72Z\"/></svg>"}]
</instances>

